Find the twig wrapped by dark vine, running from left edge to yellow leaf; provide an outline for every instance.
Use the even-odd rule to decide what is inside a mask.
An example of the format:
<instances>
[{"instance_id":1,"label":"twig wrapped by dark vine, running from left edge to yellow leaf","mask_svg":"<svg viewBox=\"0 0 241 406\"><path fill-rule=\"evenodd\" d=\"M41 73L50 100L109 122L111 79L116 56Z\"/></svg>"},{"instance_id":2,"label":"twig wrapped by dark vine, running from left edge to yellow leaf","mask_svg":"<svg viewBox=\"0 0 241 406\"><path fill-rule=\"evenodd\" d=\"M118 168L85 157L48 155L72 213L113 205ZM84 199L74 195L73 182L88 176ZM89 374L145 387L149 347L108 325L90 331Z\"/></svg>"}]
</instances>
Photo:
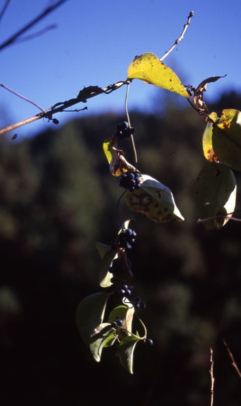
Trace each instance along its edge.
<instances>
[{"instance_id":1,"label":"twig wrapped by dark vine, running from left edge to yellow leaf","mask_svg":"<svg viewBox=\"0 0 241 406\"><path fill-rule=\"evenodd\" d=\"M98 87L98 86L88 86L84 87L78 94L76 98L71 98L70 100L60 101L56 103L54 106L45 109L42 113L39 113L33 117L29 117L23 121L19 121L18 123L11 124L8 127L4 127L0 129L0 135L5 134L15 128L21 127L22 125L26 125L33 121L39 120L41 118L48 118L49 120L52 119L52 115L56 113L60 113L64 111L68 107L72 107L78 103L86 103L88 98L95 97L101 93L112 93L114 90L119 89L123 85L128 85L131 81L130 80L121 80L117 83L109 85L105 88ZM16 93L15 93L16 94Z\"/></svg>"}]
</instances>

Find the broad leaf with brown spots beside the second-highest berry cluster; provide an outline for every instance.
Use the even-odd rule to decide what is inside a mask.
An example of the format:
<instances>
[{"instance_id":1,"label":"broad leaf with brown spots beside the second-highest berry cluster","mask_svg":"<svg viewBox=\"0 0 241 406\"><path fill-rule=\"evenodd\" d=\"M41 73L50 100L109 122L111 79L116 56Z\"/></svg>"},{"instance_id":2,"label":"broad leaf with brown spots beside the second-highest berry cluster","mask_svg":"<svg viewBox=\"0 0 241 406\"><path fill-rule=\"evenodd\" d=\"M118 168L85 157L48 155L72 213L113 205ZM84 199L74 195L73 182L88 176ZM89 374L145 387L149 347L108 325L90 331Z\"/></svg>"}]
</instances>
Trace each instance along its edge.
<instances>
[{"instance_id":1,"label":"broad leaf with brown spots beside the second-highest berry cluster","mask_svg":"<svg viewBox=\"0 0 241 406\"><path fill-rule=\"evenodd\" d=\"M148 175L142 175L141 188L126 192L126 204L136 213L153 221L183 221L170 189Z\"/></svg>"}]
</instances>

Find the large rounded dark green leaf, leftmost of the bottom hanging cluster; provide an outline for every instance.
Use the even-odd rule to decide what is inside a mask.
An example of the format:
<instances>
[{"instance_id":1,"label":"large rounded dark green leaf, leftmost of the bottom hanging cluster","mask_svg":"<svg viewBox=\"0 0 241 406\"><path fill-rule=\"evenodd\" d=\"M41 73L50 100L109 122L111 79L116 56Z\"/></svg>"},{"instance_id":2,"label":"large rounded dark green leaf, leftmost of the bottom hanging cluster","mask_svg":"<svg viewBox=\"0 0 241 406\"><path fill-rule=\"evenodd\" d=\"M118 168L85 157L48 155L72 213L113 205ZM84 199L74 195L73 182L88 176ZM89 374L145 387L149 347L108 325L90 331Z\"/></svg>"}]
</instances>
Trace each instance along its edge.
<instances>
[{"instance_id":1,"label":"large rounded dark green leaf, leftmost of the bottom hanging cluster","mask_svg":"<svg viewBox=\"0 0 241 406\"><path fill-rule=\"evenodd\" d=\"M85 344L90 344L90 337L99 324L102 323L106 303L110 296L107 292L92 293L79 304L76 312L76 324Z\"/></svg>"}]
</instances>

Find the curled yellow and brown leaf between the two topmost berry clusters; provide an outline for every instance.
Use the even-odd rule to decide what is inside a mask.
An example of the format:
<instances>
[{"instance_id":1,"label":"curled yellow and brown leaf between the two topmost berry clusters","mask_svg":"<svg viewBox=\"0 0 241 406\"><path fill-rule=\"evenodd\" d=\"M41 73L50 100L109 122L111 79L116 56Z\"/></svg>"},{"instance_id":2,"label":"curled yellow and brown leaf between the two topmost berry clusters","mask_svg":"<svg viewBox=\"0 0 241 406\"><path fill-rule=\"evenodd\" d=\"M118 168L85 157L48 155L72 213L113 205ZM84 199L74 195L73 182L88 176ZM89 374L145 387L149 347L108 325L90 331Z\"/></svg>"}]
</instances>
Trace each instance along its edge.
<instances>
[{"instance_id":1,"label":"curled yellow and brown leaf between the two topmost berry clusters","mask_svg":"<svg viewBox=\"0 0 241 406\"><path fill-rule=\"evenodd\" d=\"M116 138L114 136L104 141L103 149L110 164L110 172L113 176L121 176L124 172L139 172L124 158L124 152L117 148Z\"/></svg>"}]
</instances>

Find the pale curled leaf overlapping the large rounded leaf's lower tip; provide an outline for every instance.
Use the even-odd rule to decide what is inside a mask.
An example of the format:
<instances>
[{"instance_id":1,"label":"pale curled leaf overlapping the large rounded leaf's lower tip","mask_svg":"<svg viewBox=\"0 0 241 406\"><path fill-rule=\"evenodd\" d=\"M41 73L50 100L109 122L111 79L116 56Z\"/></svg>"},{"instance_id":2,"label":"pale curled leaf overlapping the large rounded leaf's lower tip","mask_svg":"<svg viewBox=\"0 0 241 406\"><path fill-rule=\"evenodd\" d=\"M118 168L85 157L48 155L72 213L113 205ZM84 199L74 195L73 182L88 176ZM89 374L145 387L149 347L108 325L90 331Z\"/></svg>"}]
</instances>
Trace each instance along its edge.
<instances>
[{"instance_id":1,"label":"pale curled leaf overlapping the large rounded leaf's lower tip","mask_svg":"<svg viewBox=\"0 0 241 406\"><path fill-rule=\"evenodd\" d=\"M102 349L109 342L111 335L113 335L113 328L110 323L102 323L95 328L89 346L95 361L100 361Z\"/></svg>"}]
</instances>

